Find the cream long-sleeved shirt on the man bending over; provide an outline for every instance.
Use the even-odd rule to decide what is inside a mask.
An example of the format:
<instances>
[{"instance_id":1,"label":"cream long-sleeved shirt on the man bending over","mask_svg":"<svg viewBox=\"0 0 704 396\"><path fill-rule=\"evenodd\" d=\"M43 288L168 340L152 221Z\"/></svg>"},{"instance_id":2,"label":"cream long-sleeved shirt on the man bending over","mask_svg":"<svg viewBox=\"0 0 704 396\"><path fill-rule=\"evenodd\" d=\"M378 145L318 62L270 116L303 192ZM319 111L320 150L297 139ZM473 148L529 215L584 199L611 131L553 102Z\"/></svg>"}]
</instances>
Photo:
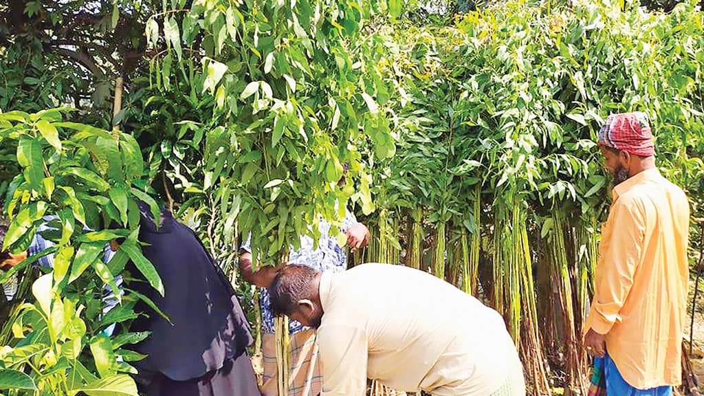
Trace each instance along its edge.
<instances>
[{"instance_id":1,"label":"cream long-sleeved shirt on the man bending over","mask_svg":"<svg viewBox=\"0 0 704 396\"><path fill-rule=\"evenodd\" d=\"M363 264L323 274L320 300L321 395L363 396L368 377L407 392L482 396L520 367L503 318L428 273Z\"/></svg>"}]
</instances>

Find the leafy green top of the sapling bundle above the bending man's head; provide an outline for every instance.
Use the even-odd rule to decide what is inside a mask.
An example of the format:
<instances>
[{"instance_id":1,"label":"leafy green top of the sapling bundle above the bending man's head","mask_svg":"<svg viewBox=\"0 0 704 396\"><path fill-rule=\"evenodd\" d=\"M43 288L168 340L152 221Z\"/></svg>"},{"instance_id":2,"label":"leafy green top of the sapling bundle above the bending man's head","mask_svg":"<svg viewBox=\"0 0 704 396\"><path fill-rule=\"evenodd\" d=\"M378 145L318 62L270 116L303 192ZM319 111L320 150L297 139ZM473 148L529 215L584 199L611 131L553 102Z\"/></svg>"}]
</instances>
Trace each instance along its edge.
<instances>
[{"instance_id":1,"label":"leafy green top of the sapling bundle above the bending man's head","mask_svg":"<svg viewBox=\"0 0 704 396\"><path fill-rule=\"evenodd\" d=\"M352 182L337 185L344 163L365 174L359 144L370 139L378 156L394 153L379 111L389 96L373 67L379 47L359 41L379 6L196 1L149 20L149 42L169 50L151 59L156 86L170 92L172 80L186 80L191 103L215 99L213 122L180 120L202 137L202 184L188 191L212 195L225 241L235 224L251 232L265 264L298 235L315 235L308 224L318 216L339 225L355 192ZM356 198L370 202L368 190Z\"/></svg>"}]
</instances>

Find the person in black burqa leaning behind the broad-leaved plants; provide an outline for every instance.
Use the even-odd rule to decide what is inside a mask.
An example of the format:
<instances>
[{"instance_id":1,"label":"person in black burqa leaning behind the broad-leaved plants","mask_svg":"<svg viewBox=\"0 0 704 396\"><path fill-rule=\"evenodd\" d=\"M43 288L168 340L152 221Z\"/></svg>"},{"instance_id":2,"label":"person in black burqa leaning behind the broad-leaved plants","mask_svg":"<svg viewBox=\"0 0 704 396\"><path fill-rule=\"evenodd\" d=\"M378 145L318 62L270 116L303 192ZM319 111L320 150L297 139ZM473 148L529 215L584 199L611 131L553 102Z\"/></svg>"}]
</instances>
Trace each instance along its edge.
<instances>
[{"instance_id":1,"label":"person in black burqa leaning behind the broad-leaved plants","mask_svg":"<svg viewBox=\"0 0 704 396\"><path fill-rule=\"evenodd\" d=\"M146 205L140 209L139 241L147 244L142 252L161 276L165 295L146 282L132 282L130 288L149 297L171 321L144 306L130 326L130 331L151 331L134 347L148 355L134 362L140 391L147 396L259 396L245 350L253 342L249 323L225 273L193 230L169 211L162 211L157 227Z\"/></svg>"}]
</instances>

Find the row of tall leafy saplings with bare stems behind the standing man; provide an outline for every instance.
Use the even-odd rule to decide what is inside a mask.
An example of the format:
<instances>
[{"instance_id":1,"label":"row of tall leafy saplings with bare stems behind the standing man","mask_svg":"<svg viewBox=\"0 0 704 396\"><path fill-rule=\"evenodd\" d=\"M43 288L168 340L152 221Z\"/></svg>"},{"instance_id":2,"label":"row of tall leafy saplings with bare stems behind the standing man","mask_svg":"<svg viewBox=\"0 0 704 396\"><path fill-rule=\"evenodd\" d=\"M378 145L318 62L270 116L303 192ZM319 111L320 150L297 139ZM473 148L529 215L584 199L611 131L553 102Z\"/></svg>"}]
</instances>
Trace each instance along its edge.
<instances>
[{"instance_id":1,"label":"row of tall leafy saplings with bare stems behind the standing man","mask_svg":"<svg viewBox=\"0 0 704 396\"><path fill-rule=\"evenodd\" d=\"M417 225L435 230L425 233L433 272L458 286L453 268L467 250L463 233L476 235L472 248L486 257L482 296L505 315L536 389L550 392L542 338L579 340L596 223L609 203L596 148L609 113L648 113L660 171L689 194L693 218L702 216L703 14L693 2L659 13L608 1L519 1L448 25L418 27L408 18L377 29L386 48L377 66L390 87L384 110L398 150L382 161L363 151L379 209L370 221L384 228L389 214L413 214L403 247L414 266L423 234ZM399 231L379 238L396 240ZM555 244L560 254L550 251ZM554 270L542 266L543 256ZM546 279L545 295L532 292L532 264ZM555 285L564 296L557 301ZM558 321L536 333L536 323L553 315L536 311L543 299L572 326ZM562 351L568 361L556 363L570 373L568 386L584 388L581 349L565 348L572 349Z\"/></svg>"}]
</instances>

